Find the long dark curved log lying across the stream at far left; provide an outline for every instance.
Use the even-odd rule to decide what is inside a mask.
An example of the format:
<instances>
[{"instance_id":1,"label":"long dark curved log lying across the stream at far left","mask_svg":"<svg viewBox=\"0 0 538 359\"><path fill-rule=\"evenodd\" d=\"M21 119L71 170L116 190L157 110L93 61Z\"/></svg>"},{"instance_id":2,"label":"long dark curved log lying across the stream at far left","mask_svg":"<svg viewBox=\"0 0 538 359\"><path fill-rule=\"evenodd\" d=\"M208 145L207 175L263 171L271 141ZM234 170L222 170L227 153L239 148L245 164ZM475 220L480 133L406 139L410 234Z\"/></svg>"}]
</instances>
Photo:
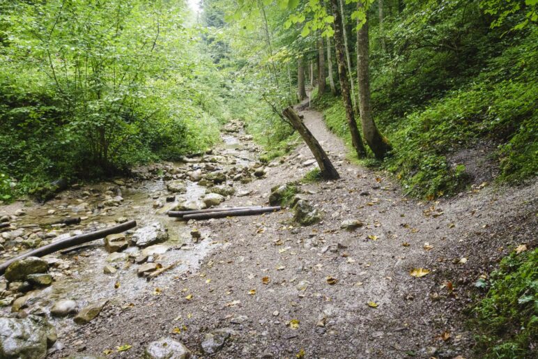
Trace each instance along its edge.
<instances>
[{"instance_id":1,"label":"long dark curved log lying across the stream at far left","mask_svg":"<svg viewBox=\"0 0 538 359\"><path fill-rule=\"evenodd\" d=\"M137 227L137 221L130 220L128 222L118 224L114 227L100 229L98 231L93 231L86 234L80 234L79 236L73 236L73 237L63 239L63 240L58 240L48 245L43 245L43 247L36 248L35 250L31 250L29 252L21 254L18 257L9 259L8 261L0 264L0 275L2 275L6 271L6 269L8 268L8 266L10 266L11 263L18 261L19 259L23 259L26 257L43 257L43 256L46 256L47 254L51 254L59 250L64 250L68 247L81 245L83 243L90 242L91 240L95 240L99 238L105 238L109 234L121 233L123 231L127 231L128 229L131 229L134 227Z\"/></svg>"}]
</instances>

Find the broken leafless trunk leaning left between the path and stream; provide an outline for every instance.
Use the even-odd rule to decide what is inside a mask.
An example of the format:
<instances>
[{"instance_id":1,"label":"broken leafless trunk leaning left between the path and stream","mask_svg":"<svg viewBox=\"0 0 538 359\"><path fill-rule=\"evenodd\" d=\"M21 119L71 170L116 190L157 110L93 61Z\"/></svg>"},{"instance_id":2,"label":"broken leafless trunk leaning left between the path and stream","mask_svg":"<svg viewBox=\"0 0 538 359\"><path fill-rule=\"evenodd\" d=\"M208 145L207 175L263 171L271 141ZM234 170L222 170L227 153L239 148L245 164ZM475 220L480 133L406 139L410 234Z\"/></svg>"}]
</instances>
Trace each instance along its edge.
<instances>
[{"instance_id":1,"label":"broken leafless trunk leaning left between the path and stream","mask_svg":"<svg viewBox=\"0 0 538 359\"><path fill-rule=\"evenodd\" d=\"M330 162L327 153L323 151L321 144L319 144L316 137L314 137L312 132L305 126L305 123L302 122L297 112L295 112L293 108L288 107L284 109L282 114L286 119L289 119L293 128L299 132L299 135L301 135L308 148L310 148L310 151L312 151L314 158L316 158L316 162L318 162L319 169L321 170L321 176L328 180L340 178L337 170L332 165L332 162Z\"/></svg>"}]
</instances>

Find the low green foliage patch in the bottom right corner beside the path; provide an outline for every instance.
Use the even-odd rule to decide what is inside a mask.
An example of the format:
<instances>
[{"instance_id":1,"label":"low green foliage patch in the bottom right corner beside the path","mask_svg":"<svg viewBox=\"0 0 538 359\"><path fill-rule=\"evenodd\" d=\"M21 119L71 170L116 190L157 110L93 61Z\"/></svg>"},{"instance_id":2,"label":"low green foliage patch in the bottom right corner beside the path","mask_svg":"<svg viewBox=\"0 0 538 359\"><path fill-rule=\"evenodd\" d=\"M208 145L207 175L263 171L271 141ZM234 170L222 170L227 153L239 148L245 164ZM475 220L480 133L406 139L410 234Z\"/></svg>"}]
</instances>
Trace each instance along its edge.
<instances>
[{"instance_id":1,"label":"low green foliage patch in the bottom right corner beside the path","mask_svg":"<svg viewBox=\"0 0 538 359\"><path fill-rule=\"evenodd\" d=\"M538 250L513 252L490 275L470 321L482 358L533 358L538 339Z\"/></svg>"}]
</instances>

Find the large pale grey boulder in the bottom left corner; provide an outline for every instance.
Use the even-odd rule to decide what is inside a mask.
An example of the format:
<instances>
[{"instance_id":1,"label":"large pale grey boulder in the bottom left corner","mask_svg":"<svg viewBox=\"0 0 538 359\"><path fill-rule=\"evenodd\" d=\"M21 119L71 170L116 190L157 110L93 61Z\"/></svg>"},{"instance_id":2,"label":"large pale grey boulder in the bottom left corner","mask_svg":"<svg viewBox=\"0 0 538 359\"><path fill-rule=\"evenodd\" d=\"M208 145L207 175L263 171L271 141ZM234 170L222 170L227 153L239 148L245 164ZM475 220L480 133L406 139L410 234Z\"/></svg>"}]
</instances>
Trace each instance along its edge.
<instances>
[{"instance_id":1,"label":"large pale grey boulder in the bottom left corner","mask_svg":"<svg viewBox=\"0 0 538 359\"><path fill-rule=\"evenodd\" d=\"M0 317L0 358L41 359L56 342L56 330L44 318Z\"/></svg>"}]
</instances>

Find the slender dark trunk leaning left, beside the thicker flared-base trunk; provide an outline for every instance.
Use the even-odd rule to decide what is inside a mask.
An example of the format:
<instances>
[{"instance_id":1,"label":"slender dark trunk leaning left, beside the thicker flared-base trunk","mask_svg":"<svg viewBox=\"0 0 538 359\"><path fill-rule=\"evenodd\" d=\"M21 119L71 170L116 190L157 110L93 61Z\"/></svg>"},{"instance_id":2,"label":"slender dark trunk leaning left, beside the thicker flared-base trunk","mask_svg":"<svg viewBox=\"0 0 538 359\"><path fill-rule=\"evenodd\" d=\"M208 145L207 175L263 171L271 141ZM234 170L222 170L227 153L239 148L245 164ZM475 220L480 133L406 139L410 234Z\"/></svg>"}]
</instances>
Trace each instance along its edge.
<instances>
[{"instance_id":1,"label":"slender dark trunk leaning left, beside the thicker flared-base trunk","mask_svg":"<svg viewBox=\"0 0 538 359\"><path fill-rule=\"evenodd\" d=\"M357 151L358 157L363 158L366 156L366 149L364 148L364 144L362 144L362 139L360 138L360 131L357 128L357 122L355 121L355 114L353 114L353 102L351 100L351 93L349 92L350 86L348 78L348 68L346 66L346 59L344 55L344 31L342 30L343 24L339 12L338 2L338 0L331 0L332 15L335 16L335 47L337 54L341 95L342 100L344 101L344 108L346 109L346 120L348 121L353 148L355 148L355 151Z\"/></svg>"}]
</instances>

